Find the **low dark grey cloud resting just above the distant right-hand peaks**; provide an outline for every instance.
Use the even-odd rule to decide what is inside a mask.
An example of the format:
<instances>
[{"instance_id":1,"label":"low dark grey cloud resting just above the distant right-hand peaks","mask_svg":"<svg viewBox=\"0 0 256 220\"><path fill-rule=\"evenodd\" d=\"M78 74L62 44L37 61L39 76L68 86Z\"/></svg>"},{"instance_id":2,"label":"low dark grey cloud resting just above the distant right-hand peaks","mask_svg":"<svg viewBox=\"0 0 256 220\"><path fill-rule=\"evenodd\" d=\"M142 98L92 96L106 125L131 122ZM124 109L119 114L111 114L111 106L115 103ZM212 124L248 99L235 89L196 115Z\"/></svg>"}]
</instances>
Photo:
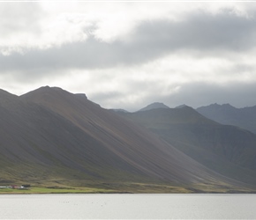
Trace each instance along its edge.
<instances>
[{"instance_id":1,"label":"low dark grey cloud resting just above the distant right-hand peaks","mask_svg":"<svg viewBox=\"0 0 256 220\"><path fill-rule=\"evenodd\" d=\"M171 107L182 104L199 107L213 103L243 107L256 105L255 94L255 82L234 82L228 85L198 82L184 84L177 94L162 97L162 100Z\"/></svg>"}]
</instances>

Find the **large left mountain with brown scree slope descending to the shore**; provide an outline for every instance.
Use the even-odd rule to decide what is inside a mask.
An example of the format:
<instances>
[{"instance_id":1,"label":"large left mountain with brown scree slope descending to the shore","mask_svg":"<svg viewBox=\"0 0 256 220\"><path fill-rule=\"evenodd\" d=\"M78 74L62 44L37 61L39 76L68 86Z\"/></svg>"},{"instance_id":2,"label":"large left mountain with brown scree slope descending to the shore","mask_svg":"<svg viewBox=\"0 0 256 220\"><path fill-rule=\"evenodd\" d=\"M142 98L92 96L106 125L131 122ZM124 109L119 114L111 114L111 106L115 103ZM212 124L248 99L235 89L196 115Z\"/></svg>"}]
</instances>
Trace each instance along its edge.
<instances>
[{"instance_id":1,"label":"large left mountain with brown scree slope descending to the shore","mask_svg":"<svg viewBox=\"0 0 256 220\"><path fill-rule=\"evenodd\" d=\"M247 187L211 171L86 95L45 86L20 97L1 91L0 100L2 184L125 189L136 183L191 191L204 191L205 186ZM134 187L131 190L135 192Z\"/></svg>"}]
</instances>

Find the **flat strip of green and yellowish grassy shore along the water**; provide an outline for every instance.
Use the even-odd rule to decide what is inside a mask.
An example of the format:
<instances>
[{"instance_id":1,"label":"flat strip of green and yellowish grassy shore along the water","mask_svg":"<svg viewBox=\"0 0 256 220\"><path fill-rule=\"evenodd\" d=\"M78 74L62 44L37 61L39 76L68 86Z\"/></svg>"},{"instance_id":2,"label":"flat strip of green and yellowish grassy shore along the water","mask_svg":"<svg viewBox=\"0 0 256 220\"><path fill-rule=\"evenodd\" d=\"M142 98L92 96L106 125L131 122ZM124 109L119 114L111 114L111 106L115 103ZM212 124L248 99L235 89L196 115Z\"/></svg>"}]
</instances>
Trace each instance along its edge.
<instances>
[{"instance_id":1,"label":"flat strip of green and yellowish grassy shore along the water","mask_svg":"<svg viewBox=\"0 0 256 220\"><path fill-rule=\"evenodd\" d=\"M256 189L218 184L176 186L141 182L94 183L86 186L60 184L31 185L28 188L0 188L0 194L256 194Z\"/></svg>"}]
</instances>

